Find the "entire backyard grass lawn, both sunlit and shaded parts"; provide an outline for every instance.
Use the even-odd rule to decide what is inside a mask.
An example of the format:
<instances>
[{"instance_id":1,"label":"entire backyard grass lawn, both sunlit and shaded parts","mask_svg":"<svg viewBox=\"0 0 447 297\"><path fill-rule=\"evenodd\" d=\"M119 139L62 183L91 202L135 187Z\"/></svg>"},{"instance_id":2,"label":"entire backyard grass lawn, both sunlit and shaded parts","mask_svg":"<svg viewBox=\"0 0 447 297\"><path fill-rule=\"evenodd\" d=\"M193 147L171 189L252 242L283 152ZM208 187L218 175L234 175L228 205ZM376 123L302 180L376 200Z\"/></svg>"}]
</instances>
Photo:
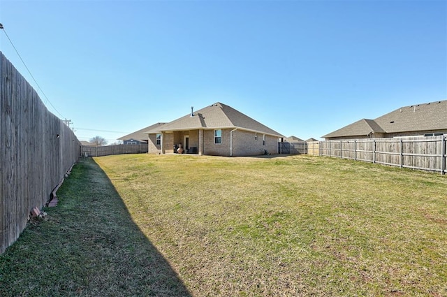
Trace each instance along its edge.
<instances>
[{"instance_id":1,"label":"entire backyard grass lawn, both sunlit and shaded parts","mask_svg":"<svg viewBox=\"0 0 447 297\"><path fill-rule=\"evenodd\" d=\"M73 168L0 256L0 296L447 296L446 176L307 155L95 161L110 180Z\"/></svg>"}]
</instances>

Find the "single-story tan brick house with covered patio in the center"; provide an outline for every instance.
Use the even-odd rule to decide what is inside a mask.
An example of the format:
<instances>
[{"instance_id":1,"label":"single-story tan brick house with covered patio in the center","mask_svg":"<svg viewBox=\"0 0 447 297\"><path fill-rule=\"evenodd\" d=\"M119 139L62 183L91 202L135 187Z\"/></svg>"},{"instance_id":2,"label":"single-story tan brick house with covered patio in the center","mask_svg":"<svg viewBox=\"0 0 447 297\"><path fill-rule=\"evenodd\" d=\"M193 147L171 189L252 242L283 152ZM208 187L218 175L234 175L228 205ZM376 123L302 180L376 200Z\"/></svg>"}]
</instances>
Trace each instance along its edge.
<instances>
[{"instance_id":1,"label":"single-story tan brick house with covered patio in the center","mask_svg":"<svg viewBox=\"0 0 447 297\"><path fill-rule=\"evenodd\" d=\"M214 103L196 112L146 131L149 153L174 153L178 147L190 154L254 156L277 154L280 133L247 115Z\"/></svg>"}]
</instances>

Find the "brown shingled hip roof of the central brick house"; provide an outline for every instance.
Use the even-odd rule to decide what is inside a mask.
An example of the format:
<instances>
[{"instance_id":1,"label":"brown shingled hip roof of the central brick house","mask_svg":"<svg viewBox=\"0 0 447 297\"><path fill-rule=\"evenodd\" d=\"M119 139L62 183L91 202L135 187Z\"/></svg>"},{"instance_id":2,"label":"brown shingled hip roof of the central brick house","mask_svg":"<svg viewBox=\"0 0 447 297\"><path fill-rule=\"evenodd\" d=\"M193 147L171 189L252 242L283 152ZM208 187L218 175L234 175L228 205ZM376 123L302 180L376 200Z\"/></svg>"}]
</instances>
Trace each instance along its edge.
<instances>
[{"instance_id":1,"label":"brown shingled hip roof of the central brick house","mask_svg":"<svg viewBox=\"0 0 447 297\"><path fill-rule=\"evenodd\" d=\"M163 125L160 129L152 129L152 131L148 132L155 133L156 131L236 128L277 136L279 138L284 137L277 131L270 129L268 126L265 126L251 117L220 102L197 110L192 116L191 114L185 115L184 117L180 117L173 122Z\"/></svg>"}]
</instances>

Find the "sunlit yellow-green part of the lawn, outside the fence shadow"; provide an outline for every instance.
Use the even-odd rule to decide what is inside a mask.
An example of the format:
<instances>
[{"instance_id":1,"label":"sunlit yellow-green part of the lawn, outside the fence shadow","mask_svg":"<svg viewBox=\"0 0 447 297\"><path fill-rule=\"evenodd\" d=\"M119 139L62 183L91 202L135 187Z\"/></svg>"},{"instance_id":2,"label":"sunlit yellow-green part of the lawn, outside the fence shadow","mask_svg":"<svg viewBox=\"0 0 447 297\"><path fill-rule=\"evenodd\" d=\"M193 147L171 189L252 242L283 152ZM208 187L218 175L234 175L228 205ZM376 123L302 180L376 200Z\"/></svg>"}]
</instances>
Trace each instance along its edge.
<instances>
[{"instance_id":1,"label":"sunlit yellow-green part of the lawn, outside the fence shadow","mask_svg":"<svg viewBox=\"0 0 447 297\"><path fill-rule=\"evenodd\" d=\"M446 296L447 178L322 157L97 159L194 296Z\"/></svg>"}]
</instances>

